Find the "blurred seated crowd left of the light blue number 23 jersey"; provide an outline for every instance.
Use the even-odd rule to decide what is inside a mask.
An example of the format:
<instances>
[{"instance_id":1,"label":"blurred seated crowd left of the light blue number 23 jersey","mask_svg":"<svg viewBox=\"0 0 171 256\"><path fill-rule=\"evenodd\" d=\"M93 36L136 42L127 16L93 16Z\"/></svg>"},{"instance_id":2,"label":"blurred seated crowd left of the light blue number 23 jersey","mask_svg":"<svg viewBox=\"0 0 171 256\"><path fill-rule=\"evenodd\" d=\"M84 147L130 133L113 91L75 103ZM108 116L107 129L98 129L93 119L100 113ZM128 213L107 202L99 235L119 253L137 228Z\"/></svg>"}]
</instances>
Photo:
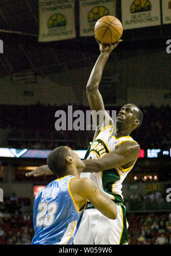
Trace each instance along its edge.
<instances>
[{"instance_id":1,"label":"blurred seated crowd left of the light blue number 23 jersey","mask_svg":"<svg viewBox=\"0 0 171 256\"><path fill-rule=\"evenodd\" d=\"M18 198L15 193L5 196L0 204L0 245L29 245L34 235L32 211L23 212L30 205L28 198Z\"/></svg>"}]
</instances>

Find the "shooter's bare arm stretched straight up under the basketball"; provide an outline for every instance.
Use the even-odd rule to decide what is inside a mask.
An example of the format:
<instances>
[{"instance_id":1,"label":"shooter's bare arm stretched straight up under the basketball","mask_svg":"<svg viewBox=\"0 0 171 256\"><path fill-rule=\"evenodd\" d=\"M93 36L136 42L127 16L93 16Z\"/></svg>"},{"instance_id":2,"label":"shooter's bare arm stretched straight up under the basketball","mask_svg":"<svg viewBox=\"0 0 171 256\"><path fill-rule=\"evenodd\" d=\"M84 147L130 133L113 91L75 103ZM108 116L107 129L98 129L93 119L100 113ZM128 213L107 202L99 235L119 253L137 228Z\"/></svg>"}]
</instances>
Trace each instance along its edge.
<instances>
[{"instance_id":1,"label":"shooter's bare arm stretched straight up under the basketball","mask_svg":"<svg viewBox=\"0 0 171 256\"><path fill-rule=\"evenodd\" d=\"M100 55L97 59L95 66L93 67L91 71L91 75L87 82L87 97L88 102L91 111L102 111L102 114L104 115L104 118L108 118L110 120L110 124L112 123L112 118L109 117L108 113L105 112L104 109L104 103L103 98L101 97L101 94L99 92L99 84L101 81L101 76L103 74L105 63L108 60L109 54L116 48L116 46L121 42L122 40L117 41L113 45L103 45L102 43L99 43L100 46ZM93 118L93 115L92 115ZM99 125L97 120L97 125Z\"/></svg>"}]
</instances>

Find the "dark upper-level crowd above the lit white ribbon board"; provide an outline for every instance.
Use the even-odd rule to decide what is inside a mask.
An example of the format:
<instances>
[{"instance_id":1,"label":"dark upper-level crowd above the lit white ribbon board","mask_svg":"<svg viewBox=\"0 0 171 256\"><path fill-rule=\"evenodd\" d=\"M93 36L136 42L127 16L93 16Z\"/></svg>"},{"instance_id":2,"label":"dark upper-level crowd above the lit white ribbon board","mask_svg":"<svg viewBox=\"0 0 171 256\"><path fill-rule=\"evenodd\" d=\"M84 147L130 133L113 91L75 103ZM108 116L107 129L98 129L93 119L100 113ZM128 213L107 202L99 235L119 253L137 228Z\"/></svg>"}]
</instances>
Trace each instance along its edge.
<instances>
[{"instance_id":1,"label":"dark upper-level crowd above the lit white ribbon board","mask_svg":"<svg viewBox=\"0 0 171 256\"><path fill-rule=\"evenodd\" d=\"M120 107L108 107L107 110L116 110ZM0 128L6 131L0 134L0 147L15 147L27 149L53 149L56 146L68 145L74 149L87 149L92 141L94 131L55 130L55 122L58 118L55 113L58 110L66 112L66 124L68 118L68 106L35 105L13 106L1 105ZM72 106L72 113L82 110L85 116L89 107ZM171 129L171 108L169 106L141 107L144 120L141 127L132 133L132 137L139 142L142 149L168 149L171 146L169 136ZM73 121L76 118L73 118ZM86 128L86 125L85 125ZM143 136L142 136L143 135Z\"/></svg>"}]
</instances>

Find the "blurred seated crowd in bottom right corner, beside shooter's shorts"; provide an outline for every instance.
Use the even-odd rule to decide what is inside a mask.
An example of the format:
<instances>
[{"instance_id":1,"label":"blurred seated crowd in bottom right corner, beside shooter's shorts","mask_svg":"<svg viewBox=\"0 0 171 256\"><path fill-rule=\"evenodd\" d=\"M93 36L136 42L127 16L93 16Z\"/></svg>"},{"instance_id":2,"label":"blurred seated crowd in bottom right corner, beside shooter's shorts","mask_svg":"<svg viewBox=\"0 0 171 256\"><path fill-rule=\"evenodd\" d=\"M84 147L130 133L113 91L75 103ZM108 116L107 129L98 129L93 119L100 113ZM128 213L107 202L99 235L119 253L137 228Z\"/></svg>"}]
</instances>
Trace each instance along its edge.
<instances>
[{"instance_id":1,"label":"blurred seated crowd in bottom right corner, beside shooter's shorts","mask_svg":"<svg viewBox=\"0 0 171 256\"><path fill-rule=\"evenodd\" d=\"M171 245L171 213L127 215L129 244Z\"/></svg>"}]
</instances>

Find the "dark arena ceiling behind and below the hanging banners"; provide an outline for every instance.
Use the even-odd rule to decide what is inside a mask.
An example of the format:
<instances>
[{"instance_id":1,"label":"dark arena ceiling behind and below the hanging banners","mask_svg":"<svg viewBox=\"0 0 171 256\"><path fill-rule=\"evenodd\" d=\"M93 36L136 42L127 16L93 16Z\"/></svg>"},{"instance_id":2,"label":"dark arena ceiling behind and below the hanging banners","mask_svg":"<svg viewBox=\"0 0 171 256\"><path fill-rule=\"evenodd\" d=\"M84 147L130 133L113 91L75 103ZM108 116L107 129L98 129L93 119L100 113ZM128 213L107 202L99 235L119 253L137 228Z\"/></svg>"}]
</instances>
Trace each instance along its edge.
<instances>
[{"instance_id":1,"label":"dark arena ceiling behind and below the hanging banners","mask_svg":"<svg viewBox=\"0 0 171 256\"><path fill-rule=\"evenodd\" d=\"M78 5L76 0L77 20ZM119 0L117 13L121 18ZM46 76L89 65L99 54L99 47L93 37L79 37L79 22L75 26L77 37L74 39L39 43L38 0L1 0L0 39L4 53L0 55L0 75L32 70L37 75ZM144 49L148 53L165 49L170 30L171 25L124 30L117 57L129 58L132 56L129 50L134 49Z\"/></svg>"}]
</instances>

